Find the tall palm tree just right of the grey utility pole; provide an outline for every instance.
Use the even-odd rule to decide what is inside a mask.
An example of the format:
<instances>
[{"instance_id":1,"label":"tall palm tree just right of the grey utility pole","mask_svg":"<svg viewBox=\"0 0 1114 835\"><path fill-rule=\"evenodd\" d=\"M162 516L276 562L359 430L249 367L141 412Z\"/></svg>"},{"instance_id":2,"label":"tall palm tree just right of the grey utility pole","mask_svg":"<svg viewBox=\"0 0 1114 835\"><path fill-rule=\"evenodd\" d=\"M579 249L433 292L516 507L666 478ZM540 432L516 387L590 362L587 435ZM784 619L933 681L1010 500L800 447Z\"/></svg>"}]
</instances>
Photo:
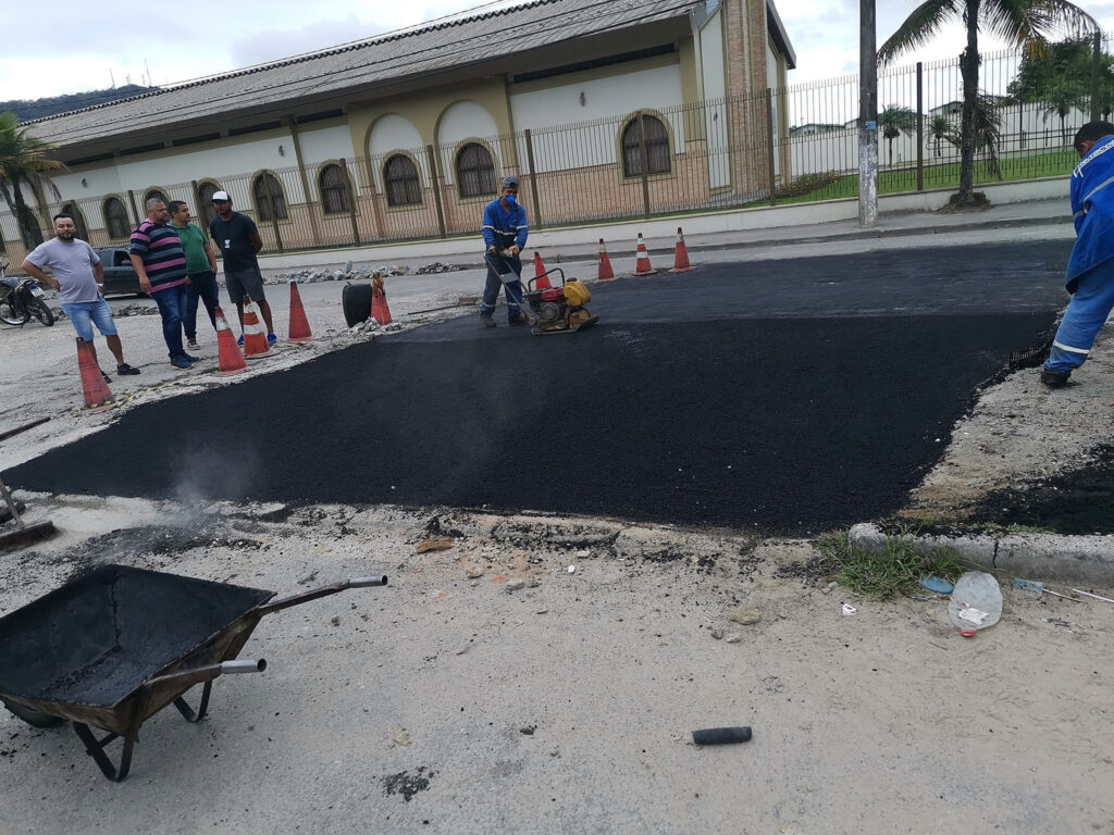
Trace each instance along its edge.
<instances>
[{"instance_id":1,"label":"tall palm tree just right of the grey utility pole","mask_svg":"<svg viewBox=\"0 0 1114 835\"><path fill-rule=\"evenodd\" d=\"M1098 30L1095 19L1067 0L925 0L878 50L880 63L931 40L945 21L959 18L967 30L967 48L959 56L964 109L959 121L959 194L955 202L975 202L975 108L978 101L979 30L1029 49L1048 42L1066 28L1076 36Z\"/></svg>"}]
</instances>

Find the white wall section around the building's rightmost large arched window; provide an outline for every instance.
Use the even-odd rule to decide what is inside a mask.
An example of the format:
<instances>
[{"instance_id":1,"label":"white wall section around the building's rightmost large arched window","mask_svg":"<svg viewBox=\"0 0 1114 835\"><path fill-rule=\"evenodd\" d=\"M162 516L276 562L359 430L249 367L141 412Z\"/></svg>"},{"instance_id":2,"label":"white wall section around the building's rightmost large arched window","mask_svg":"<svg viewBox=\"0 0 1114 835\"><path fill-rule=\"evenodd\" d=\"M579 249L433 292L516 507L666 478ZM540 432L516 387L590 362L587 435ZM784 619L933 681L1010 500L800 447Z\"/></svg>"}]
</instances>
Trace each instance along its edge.
<instances>
[{"instance_id":1,"label":"white wall section around the building's rightmost large arched window","mask_svg":"<svg viewBox=\"0 0 1114 835\"><path fill-rule=\"evenodd\" d=\"M584 105L580 105L580 94ZM681 67L655 67L622 76L549 87L510 97L515 128L534 132L534 165L538 173L614 165L618 148L617 122L579 125L639 108L665 110L684 104ZM684 114L666 117L673 131L674 153L685 148ZM573 125L557 134L547 127ZM541 132L538 132L541 131ZM566 151L566 153L561 153ZM526 144L519 143L519 159L526 159Z\"/></svg>"}]
</instances>

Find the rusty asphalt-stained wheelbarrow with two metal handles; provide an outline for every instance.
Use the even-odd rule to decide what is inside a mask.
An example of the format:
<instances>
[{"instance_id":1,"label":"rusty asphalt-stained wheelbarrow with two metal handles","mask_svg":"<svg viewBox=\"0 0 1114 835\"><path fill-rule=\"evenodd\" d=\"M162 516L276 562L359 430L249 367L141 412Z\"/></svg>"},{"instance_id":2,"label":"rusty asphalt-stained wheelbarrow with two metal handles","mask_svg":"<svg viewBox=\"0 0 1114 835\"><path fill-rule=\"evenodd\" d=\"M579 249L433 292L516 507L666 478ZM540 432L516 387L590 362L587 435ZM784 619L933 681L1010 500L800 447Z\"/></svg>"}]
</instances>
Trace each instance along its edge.
<instances>
[{"instance_id":1,"label":"rusty asphalt-stained wheelbarrow with two metal handles","mask_svg":"<svg viewBox=\"0 0 1114 835\"><path fill-rule=\"evenodd\" d=\"M100 770L119 782L147 719L173 704L201 721L215 678L266 669L262 658L235 660L264 615L385 584L387 577L360 577L272 600L265 589L104 566L0 618L0 700L36 727L71 721ZM199 684L194 710L183 696ZM124 741L119 766L105 753L115 739Z\"/></svg>"}]
</instances>

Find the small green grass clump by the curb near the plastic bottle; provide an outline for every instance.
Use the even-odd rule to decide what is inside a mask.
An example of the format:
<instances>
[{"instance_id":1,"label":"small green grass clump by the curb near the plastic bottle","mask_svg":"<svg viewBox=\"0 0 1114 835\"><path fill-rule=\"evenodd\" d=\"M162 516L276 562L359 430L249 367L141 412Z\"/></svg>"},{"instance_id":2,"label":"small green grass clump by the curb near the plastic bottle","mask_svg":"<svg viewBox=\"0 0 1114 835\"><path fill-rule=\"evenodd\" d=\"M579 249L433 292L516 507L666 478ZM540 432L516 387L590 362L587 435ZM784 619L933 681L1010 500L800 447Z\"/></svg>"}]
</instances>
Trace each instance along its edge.
<instances>
[{"instance_id":1,"label":"small green grass clump by the curb near the plastic bottle","mask_svg":"<svg viewBox=\"0 0 1114 835\"><path fill-rule=\"evenodd\" d=\"M929 574L955 582L970 568L950 548L918 553L905 536L887 537L886 550L879 553L852 548L846 531L824 534L817 548L838 566L841 586L876 600L911 595L919 589L917 581Z\"/></svg>"}]
</instances>

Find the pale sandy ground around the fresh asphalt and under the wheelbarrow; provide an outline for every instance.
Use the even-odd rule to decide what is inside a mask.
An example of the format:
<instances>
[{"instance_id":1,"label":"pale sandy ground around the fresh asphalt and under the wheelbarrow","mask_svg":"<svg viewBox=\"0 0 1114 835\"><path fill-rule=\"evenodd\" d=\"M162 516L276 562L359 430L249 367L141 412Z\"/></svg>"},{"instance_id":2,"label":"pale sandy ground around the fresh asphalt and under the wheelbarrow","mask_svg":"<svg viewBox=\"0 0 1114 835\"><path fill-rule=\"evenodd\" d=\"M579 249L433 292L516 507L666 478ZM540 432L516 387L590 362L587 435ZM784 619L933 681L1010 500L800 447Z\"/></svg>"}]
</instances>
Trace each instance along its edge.
<instances>
[{"instance_id":1,"label":"pale sandy ground around the fresh asphalt and under the wheelbarrow","mask_svg":"<svg viewBox=\"0 0 1114 835\"><path fill-rule=\"evenodd\" d=\"M339 302L335 284L312 286ZM315 330L336 315L325 289L307 303ZM157 331L124 323L126 345ZM46 397L27 383L21 405L4 384L0 418L56 418L6 443L2 466L107 420L62 393L51 366L72 342L55 335L0 334L6 362L38 352L50 381ZM1033 370L985 391L915 505L951 512L1085 461L1114 411L1103 356L1107 337L1062 392ZM144 385L159 380L145 366ZM118 786L68 728L0 710L4 835L1114 832L1114 605L1038 599L1001 577L1001 621L964 639L946 600L825 592L805 541L482 510L25 498L62 533L0 560L0 612L106 560L281 593L391 584L266 618L242 656L267 671L218 680L201 725L157 715ZM418 553L434 533L451 547ZM760 619L733 621L741 609ZM691 744L734 725L753 739Z\"/></svg>"}]
</instances>

